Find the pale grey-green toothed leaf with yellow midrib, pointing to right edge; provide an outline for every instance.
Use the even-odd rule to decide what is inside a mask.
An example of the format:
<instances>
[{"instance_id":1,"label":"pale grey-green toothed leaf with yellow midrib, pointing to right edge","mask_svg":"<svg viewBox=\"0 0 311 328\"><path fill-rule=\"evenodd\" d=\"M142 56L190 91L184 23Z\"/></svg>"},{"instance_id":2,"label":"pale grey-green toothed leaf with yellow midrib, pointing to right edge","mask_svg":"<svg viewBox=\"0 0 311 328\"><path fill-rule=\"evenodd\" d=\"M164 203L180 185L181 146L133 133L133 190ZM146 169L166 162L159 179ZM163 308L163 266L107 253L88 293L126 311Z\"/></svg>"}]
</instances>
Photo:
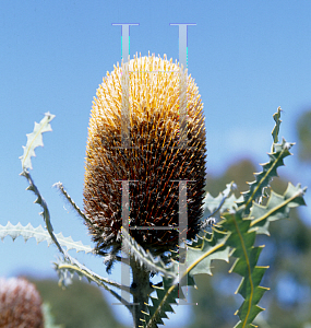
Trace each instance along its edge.
<instances>
[{"instance_id":1,"label":"pale grey-green toothed leaf with yellow midrib, pointing to right edge","mask_svg":"<svg viewBox=\"0 0 311 328\"><path fill-rule=\"evenodd\" d=\"M303 199L307 187L302 189L300 184L295 187L289 183L284 195L278 195L272 190L266 206L254 202L249 215L251 219L250 232L270 235L270 222L289 218L291 208L306 206Z\"/></svg>"}]
</instances>

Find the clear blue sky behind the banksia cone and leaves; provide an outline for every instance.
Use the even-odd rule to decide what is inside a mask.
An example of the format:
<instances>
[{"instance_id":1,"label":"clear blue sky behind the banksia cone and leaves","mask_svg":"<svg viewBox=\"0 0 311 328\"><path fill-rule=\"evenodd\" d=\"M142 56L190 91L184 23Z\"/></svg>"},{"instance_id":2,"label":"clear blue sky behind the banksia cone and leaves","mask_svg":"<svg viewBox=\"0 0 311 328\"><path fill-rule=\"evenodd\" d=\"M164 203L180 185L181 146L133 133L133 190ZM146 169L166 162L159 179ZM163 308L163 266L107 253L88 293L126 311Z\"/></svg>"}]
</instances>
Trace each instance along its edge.
<instances>
[{"instance_id":1,"label":"clear blue sky behind the banksia cone and leaves","mask_svg":"<svg viewBox=\"0 0 311 328\"><path fill-rule=\"evenodd\" d=\"M207 174L220 174L241 157L266 162L278 106L284 110L280 136L297 141L297 118L311 108L310 1L1 1L2 225L44 224L34 195L19 176L19 156L34 121L50 112L53 131L44 134L45 147L36 150L31 173L49 204L55 231L91 244L80 219L51 186L62 181L82 207L92 101L103 77L121 60L121 27L112 23L140 24L130 30L131 58L149 50L174 61L178 27L169 24L196 23L188 27L188 69L204 103ZM295 147L292 153L297 151ZM295 156L286 165L280 176L310 183L310 169ZM310 209L301 212L307 221ZM57 249L46 243L25 245L7 237L0 244L0 276L56 278L55 255ZM100 259L77 257L106 274ZM174 327L176 317L189 319L189 311L181 312L167 327ZM129 316L124 320L130 324Z\"/></svg>"}]
</instances>

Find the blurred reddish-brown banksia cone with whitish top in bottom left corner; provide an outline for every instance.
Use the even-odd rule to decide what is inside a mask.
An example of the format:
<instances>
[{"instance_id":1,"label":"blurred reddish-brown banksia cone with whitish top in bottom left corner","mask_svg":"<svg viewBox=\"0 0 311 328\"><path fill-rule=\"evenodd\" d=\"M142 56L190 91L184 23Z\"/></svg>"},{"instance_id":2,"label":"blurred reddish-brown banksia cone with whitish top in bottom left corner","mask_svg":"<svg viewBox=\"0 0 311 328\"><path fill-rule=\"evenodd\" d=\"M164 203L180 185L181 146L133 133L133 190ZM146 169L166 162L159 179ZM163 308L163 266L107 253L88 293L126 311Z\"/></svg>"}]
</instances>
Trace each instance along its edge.
<instances>
[{"instance_id":1,"label":"blurred reddish-brown banksia cone with whitish top in bottom left corner","mask_svg":"<svg viewBox=\"0 0 311 328\"><path fill-rule=\"evenodd\" d=\"M41 298L23 278L0 278L0 327L44 328Z\"/></svg>"}]
</instances>

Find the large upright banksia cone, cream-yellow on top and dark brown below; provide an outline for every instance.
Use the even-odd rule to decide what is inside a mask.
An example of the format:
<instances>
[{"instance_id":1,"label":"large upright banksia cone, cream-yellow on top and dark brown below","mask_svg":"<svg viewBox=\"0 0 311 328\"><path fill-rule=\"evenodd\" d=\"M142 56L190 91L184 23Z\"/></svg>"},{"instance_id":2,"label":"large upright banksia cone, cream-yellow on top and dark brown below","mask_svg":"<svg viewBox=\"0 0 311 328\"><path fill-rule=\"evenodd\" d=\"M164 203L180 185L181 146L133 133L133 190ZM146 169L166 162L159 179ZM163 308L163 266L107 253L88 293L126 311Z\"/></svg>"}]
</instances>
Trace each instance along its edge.
<instances>
[{"instance_id":1,"label":"large upright banksia cone, cream-yellow on top and dark brown below","mask_svg":"<svg viewBox=\"0 0 311 328\"><path fill-rule=\"evenodd\" d=\"M179 97L186 104L186 90L188 148L179 148ZM203 104L193 79L166 57L136 57L128 68L118 63L107 72L96 96L84 180L84 210L96 248L113 246L116 253L121 246L122 184L117 180L136 180L129 185L129 226L151 229L130 234L154 255L178 244L178 230L153 230L179 224L179 184L172 180L194 180L187 184L187 238L194 237L203 214L206 150ZM127 149L121 148L124 129L130 131Z\"/></svg>"}]
</instances>

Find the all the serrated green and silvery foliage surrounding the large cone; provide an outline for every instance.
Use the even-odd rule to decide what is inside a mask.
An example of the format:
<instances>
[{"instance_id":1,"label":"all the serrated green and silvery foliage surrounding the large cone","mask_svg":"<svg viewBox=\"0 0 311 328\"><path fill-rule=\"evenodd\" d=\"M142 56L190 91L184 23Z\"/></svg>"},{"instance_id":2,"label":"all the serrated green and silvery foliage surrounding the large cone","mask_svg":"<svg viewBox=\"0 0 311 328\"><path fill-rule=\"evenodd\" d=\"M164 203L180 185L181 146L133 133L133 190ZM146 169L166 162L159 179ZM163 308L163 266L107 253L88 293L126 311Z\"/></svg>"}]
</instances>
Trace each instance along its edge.
<instances>
[{"instance_id":1,"label":"all the serrated green and silvery foliage surrounding the large cone","mask_svg":"<svg viewBox=\"0 0 311 328\"><path fill-rule=\"evenodd\" d=\"M80 277L86 277L88 281L104 286L113 294L134 316L133 306L108 285L130 292L133 296L137 293L137 286L124 286L94 273L63 249L67 246L68 249L75 248L77 251L91 251L89 246L83 246L81 242L75 243L71 237L64 238L60 234L53 234L47 204L28 173L28 168L32 168L31 157L34 155L34 150L37 145L43 145L41 133L50 130L49 121L52 118L53 116L48 113L39 125L35 125L34 132L27 134L27 145L24 148L24 155L21 157L22 175L28 180L29 187L27 189L37 196L35 202L43 208L41 215L46 223L46 231L41 227L34 229L29 224L23 227L22 225L13 226L8 223L5 226L0 226L0 237L3 239L5 235L11 235L14 239L21 235L25 241L34 236L37 242L53 242L61 253L61 257L55 263L55 268L63 286L71 282L74 272ZM158 272L163 277L162 283L153 285L151 290L151 293L156 291L157 296L153 297L149 293L148 296L152 304L147 305L145 311L142 311L141 317L134 317L135 327L158 327L159 324L163 324L163 319L167 318L166 313L172 312L170 304L177 304L181 301L187 302L181 292L181 286L195 286L199 276L212 274L213 260L229 261L230 257L236 258L236 261L229 272L238 273L242 278L237 292L244 298L237 311L239 321L235 327L255 327L253 321L258 314L263 311L259 306L259 302L268 290L268 288L261 285L267 267L258 265L264 246L255 246L256 236L260 234L270 235L271 222L288 218L291 208L304 204L303 195L307 190L307 188L301 188L300 185L295 187L289 183L287 190L283 195L278 195L273 190L270 194L267 192L272 179L277 176L277 168L284 165L285 157L291 155L289 150L294 144L286 142L284 139L280 143L277 143L280 108L274 115L274 120L275 127L272 132L273 144L268 154L270 161L262 164L262 172L256 173L255 180L249 183L249 190L237 199L234 194L235 184L230 183L216 198L207 192L204 199L206 216L202 220L201 231L195 239L188 241L183 247L180 245L179 253L171 251L169 255L154 258L148 250L143 249L122 229L123 250L128 253L130 258L130 261L124 259L123 265L131 265L131 261L136 261L140 263L139 270ZM79 214L84 220L88 220L63 188L62 194L73 208L77 210ZM106 256L109 259L110 255L107 254ZM119 260L122 259L119 258ZM133 269L132 265L131 267ZM182 271L181 268L183 268Z\"/></svg>"}]
</instances>

